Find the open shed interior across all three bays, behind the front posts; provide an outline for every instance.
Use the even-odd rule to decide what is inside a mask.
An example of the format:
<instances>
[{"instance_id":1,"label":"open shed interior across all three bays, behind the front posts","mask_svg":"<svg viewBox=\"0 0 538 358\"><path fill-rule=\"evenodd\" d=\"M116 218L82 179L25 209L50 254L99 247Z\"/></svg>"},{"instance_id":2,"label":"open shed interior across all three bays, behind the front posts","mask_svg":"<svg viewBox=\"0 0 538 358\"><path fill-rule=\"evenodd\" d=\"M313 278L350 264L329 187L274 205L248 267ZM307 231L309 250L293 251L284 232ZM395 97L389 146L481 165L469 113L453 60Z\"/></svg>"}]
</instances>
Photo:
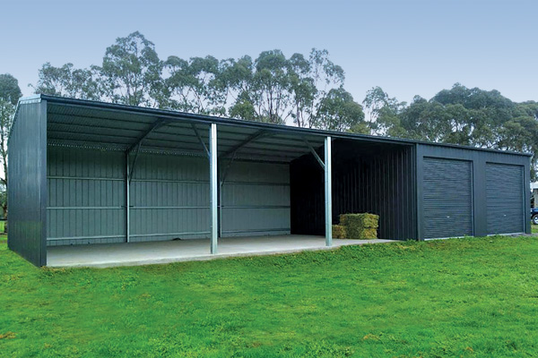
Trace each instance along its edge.
<instances>
[{"instance_id":1,"label":"open shed interior across all three bays, behind the front posts","mask_svg":"<svg viewBox=\"0 0 538 358\"><path fill-rule=\"evenodd\" d=\"M48 246L209 237L207 122L47 108ZM325 160L324 139L218 124L220 236L323 235L324 170L312 152ZM380 238L414 238L412 145L337 139L333 148L333 222L369 211Z\"/></svg>"}]
</instances>

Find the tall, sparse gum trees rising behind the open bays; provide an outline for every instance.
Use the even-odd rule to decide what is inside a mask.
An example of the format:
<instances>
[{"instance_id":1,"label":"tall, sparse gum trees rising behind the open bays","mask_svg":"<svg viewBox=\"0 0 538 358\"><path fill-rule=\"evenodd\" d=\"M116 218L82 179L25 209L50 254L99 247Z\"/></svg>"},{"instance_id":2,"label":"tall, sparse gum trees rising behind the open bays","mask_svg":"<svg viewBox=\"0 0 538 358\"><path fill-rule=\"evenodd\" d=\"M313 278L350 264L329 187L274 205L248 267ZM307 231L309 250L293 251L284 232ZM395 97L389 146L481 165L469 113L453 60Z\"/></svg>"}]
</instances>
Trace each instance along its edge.
<instances>
[{"instance_id":1,"label":"tall, sparse gum trees rising behind the open bays","mask_svg":"<svg viewBox=\"0 0 538 358\"><path fill-rule=\"evenodd\" d=\"M369 132L360 105L343 90L342 67L326 50L306 58L282 51L219 60L211 55L161 61L154 44L136 31L117 38L100 66L43 64L34 90L56 96L99 99L203 115L300 127ZM343 103L345 108L334 108Z\"/></svg>"}]
</instances>

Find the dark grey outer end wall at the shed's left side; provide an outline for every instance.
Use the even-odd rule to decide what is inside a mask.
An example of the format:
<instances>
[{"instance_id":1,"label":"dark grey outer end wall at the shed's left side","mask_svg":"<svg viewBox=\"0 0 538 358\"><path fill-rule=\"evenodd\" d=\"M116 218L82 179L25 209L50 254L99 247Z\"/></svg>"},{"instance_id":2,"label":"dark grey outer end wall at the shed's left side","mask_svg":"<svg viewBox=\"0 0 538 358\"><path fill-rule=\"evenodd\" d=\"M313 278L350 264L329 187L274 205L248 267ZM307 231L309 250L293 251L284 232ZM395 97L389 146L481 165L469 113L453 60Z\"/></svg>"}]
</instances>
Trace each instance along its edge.
<instances>
[{"instance_id":1,"label":"dark grey outer end wall at the shed's left side","mask_svg":"<svg viewBox=\"0 0 538 358\"><path fill-rule=\"evenodd\" d=\"M21 103L9 140L8 246L47 264L47 103Z\"/></svg>"}]
</instances>

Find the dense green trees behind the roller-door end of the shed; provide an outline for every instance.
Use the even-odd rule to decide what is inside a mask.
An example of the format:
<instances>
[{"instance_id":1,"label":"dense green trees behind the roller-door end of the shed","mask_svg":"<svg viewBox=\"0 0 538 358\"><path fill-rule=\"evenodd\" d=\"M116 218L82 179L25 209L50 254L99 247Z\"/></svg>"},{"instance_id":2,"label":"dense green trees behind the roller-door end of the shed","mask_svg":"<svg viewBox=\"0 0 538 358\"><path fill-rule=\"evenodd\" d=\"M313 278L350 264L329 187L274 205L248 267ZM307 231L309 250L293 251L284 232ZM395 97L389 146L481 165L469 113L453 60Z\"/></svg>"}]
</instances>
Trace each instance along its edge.
<instances>
[{"instance_id":1,"label":"dense green trees behind the roller-door end of the shed","mask_svg":"<svg viewBox=\"0 0 538 358\"><path fill-rule=\"evenodd\" d=\"M376 125L384 126L387 135L530 152L536 177L538 103L515 103L497 90L468 89L459 83L430 100L416 96L409 106L397 106L378 93L385 94L372 90L363 103L378 114Z\"/></svg>"}]
</instances>

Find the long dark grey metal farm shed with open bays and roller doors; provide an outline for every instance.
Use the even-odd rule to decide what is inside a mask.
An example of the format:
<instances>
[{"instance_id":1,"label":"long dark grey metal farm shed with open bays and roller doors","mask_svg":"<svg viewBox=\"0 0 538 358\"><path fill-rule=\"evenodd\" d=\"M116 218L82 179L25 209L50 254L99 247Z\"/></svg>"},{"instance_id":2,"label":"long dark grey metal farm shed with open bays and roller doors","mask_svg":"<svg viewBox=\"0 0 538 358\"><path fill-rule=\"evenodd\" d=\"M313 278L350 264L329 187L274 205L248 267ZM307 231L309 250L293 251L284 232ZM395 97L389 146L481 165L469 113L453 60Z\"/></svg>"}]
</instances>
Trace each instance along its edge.
<instances>
[{"instance_id":1,"label":"long dark grey metal farm shed with open bays and roller doors","mask_svg":"<svg viewBox=\"0 0 538 358\"><path fill-rule=\"evenodd\" d=\"M37 266L103 243L331 246L346 212L381 239L530 232L526 154L39 95L9 158L8 244Z\"/></svg>"}]
</instances>

